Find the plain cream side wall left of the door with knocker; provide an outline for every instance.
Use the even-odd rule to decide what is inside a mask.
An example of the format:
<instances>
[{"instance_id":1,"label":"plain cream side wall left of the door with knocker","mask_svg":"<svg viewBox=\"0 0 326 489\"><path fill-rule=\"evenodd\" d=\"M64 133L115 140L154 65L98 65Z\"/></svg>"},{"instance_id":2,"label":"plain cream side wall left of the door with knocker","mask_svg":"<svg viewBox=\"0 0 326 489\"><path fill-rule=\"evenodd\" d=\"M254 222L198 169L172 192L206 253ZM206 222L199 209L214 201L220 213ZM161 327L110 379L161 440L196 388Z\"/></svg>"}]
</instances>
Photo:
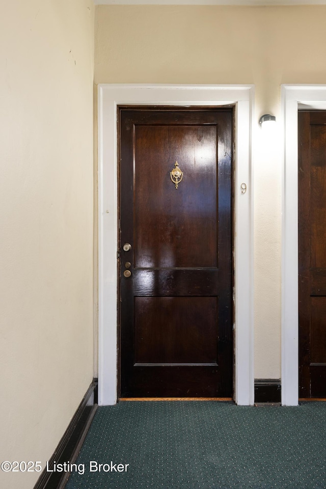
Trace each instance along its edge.
<instances>
[{"instance_id":1,"label":"plain cream side wall left of the door with knocker","mask_svg":"<svg viewBox=\"0 0 326 489\"><path fill-rule=\"evenodd\" d=\"M93 377L93 0L0 24L0 460L44 466Z\"/></svg>"}]
</instances>

